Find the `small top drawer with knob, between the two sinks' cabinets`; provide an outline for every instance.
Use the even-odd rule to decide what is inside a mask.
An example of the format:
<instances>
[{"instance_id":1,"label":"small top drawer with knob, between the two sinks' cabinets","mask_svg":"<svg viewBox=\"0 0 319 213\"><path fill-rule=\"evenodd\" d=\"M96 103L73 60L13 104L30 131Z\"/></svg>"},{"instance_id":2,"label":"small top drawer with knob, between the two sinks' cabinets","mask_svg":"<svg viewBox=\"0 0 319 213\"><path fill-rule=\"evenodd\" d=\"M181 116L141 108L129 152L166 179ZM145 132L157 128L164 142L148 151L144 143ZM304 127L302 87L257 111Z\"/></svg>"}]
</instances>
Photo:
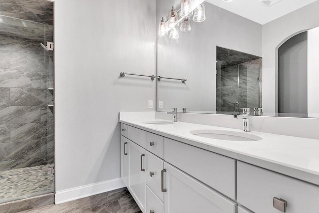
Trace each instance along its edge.
<instances>
[{"instance_id":1,"label":"small top drawer with knob, between the two sinks' cabinets","mask_svg":"<svg viewBox=\"0 0 319 213\"><path fill-rule=\"evenodd\" d=\"M164 158L164 137L150 132L146 133L146 149L153 154Z\"/></svg>"}]
</instances>

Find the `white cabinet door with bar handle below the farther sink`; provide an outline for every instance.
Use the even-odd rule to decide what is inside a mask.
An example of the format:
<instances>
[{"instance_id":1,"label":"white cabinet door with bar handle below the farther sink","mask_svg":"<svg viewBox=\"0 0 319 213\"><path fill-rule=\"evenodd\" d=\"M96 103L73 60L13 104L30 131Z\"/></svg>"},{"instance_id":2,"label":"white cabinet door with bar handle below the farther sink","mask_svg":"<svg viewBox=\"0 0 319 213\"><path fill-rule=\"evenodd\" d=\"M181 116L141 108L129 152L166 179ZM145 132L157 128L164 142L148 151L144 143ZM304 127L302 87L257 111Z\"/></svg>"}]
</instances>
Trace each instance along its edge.
<instances>
[{"instance_id":1,"label":"white cabinet door with bar handle below the farther sink","mask_svg":"<svg viewBox=\"0 0 319 213\"><path fill-rule=\"evenodd\" d=\"M145 154L145 149L129 141L129 188L142 212L146 203Z\"/></svg>"}]
</instances>

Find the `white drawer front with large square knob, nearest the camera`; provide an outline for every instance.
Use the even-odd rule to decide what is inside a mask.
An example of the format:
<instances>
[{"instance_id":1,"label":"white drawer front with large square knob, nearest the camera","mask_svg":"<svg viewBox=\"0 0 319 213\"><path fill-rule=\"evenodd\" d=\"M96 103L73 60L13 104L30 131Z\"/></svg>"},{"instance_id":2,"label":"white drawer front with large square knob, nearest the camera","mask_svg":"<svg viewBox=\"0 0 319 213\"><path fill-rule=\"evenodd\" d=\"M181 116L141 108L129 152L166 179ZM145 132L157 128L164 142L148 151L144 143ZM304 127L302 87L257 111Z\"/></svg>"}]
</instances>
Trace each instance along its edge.
<instances>
[{"instance_id":1,"label":"white drawer front with large square knob, nearest the camera","mask_svg":"<svg viewBox=\"0 0 319 213\"><path fill-rule=\"evenodd\" d=\"M287 213L319 212L319 187L238 161L237 201L256 213L283 212L274 198L287 202Z\"/></svg>"}]
</instances>

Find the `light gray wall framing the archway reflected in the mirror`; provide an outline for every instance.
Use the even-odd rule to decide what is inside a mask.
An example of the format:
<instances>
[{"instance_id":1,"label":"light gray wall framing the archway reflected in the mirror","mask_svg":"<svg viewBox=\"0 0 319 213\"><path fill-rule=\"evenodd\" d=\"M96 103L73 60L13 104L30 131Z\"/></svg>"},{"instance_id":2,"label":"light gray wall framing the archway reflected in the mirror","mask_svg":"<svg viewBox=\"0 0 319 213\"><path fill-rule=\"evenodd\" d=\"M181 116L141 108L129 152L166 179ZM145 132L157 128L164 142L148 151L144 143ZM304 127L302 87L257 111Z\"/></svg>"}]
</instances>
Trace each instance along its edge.
<instances>
[{"instance_id":1,"label":"light gray wall framing the archway reflected in the mirror","mask_svg":"<svg viewBox=\"0 0 319 213\"><path fill-rule=\"evenodd\" d=\"M300 32L319 26L319 1L263 25L263 107L278 112L278 48Z\"/></svg>"}]
</instances>

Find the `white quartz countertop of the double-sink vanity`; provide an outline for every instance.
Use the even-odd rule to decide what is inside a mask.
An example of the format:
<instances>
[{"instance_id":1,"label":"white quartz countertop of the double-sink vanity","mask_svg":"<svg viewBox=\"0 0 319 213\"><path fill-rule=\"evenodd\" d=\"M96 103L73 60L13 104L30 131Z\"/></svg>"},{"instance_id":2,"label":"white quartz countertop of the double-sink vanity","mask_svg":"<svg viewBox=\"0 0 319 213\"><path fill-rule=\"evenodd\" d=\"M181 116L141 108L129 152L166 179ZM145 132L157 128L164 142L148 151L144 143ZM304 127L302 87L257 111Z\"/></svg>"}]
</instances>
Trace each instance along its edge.
<instances>
[{"instance_id":1,"label":"white quartz countertop of the double-sink vanity","mask_svg":"<svg viewBox=\"0 0 319 213\"><path fill-rule=\"evenodd\" d=\"M152 113L120 113L120 122L319 186L319 140L263 132L245 133L263 138L260 141L210 139L192 135L190 131L244 132L238 129L185 122L164 125L143 123L163 121L150 115Z\"/></svg>"}]
</instances>

